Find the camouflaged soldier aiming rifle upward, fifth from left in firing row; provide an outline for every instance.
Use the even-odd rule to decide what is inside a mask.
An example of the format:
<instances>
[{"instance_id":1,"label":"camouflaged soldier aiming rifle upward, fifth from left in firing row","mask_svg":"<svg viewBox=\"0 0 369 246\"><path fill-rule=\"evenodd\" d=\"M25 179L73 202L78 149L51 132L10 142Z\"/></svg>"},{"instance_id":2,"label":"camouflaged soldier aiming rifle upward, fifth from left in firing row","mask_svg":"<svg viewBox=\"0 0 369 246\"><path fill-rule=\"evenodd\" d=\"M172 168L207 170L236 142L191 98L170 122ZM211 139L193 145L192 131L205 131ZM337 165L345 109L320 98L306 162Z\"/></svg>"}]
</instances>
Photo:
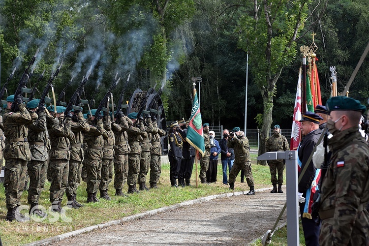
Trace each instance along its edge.
<instances>
[{"instance_id":1,"label":"camouflaged soldier aiming rifle upward, fifth from left in firing row","mask_svg":"<svg viewBox=\"0 0 369 246\"><path fill-rule=\"evenodd\" d=\"M87 202L98 202L96 193L101 182L101 158L102 149L104 147L104 126L102 123L102 115L98 113L96 125L92 125L96 109L92 109L93 116L88 114L88 123L90 130L85 134L85 143L89 143L86 151L86 171L87 171Z\"/></svg>"}]
</instances>

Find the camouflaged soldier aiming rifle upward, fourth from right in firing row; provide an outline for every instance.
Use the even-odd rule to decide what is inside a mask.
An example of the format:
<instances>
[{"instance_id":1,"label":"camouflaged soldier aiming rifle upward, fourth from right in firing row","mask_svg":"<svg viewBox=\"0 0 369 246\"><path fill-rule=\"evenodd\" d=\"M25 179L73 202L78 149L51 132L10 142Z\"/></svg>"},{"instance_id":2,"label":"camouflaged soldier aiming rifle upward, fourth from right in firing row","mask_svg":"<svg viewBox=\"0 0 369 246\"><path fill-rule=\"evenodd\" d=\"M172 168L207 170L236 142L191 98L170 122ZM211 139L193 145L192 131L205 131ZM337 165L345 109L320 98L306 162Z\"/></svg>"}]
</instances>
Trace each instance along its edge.
<instances>
[{"instance_id":1,"label":"camouflaged soldier aiming rifle upward, fourth from right in firing row","mask_svg":"<svg viewBox=\"0 0 369 246\"><path fill-rule=\"evenodd\" d=\"M112 124L116 141L114 148L114 188L116 196L126 196L122 189L128 177L128 154L131 150L128 144L127 129L133 125L133 122L122 111L119 111L115 118L116 123Z\"/></svg>"}]
</instances>

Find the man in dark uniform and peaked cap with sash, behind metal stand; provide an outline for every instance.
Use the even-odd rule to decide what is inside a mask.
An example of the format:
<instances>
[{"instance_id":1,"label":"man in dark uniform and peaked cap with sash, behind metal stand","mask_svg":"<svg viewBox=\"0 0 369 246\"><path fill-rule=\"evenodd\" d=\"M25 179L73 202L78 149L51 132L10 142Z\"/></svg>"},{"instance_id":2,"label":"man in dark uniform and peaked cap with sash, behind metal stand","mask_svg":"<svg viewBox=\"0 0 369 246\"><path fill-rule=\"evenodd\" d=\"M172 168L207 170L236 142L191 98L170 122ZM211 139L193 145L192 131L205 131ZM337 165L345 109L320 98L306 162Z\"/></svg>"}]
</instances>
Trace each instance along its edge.
<instances>
[{"instance_id":1,"label":"man in dark uniform and peaked cap with sash, behind metal stand","mask_svg":"<svg viewBox=\"0 0 369 246\"><path fill-rule=\"evenodd\" d=\"M321 118L317 114L307 111L300 120L301 131L304 138L298 148L299 177L301 175L301 171L306 165L307 169L299 183L298 199L300 206L301 223L303 225L305 242L307 246L319 245L319 226L316 225L314 216L305 215L304 211L305 207L309 206L310 201L309 198L306 198L307 190L310 189L311 185L316 185L312 184L315 178L316 168L314 167L312 160L309 163L307 163L307 160L309 159L310 154L314 150L314 147L319 140L320 134L322 133L319 129L319 122L322 119L323 118Z\"/></svg>"}]
</instances>

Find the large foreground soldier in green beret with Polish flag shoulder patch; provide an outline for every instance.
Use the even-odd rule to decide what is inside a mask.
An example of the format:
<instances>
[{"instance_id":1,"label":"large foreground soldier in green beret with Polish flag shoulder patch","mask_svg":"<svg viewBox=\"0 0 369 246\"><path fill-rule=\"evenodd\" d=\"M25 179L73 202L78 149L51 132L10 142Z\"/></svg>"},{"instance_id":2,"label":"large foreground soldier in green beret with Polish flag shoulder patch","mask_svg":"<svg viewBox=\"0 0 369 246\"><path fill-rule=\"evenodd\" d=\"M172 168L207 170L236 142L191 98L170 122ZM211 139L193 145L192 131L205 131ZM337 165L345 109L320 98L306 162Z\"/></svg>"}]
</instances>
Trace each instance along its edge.
<instances>
[{"instance_id":1,"label":"large foreground soldier in green beret with Polish flag shoulder patch","mask_svg":"<svg viewBox=\"0 0 369 246\"><path fill-rule=\"evenodd\" d=\"M358 131L366 107L345 96L330 98L326 106L332 157L320 193L319 244L369 245L369 147Z\"/></svg>"}]
</instances>

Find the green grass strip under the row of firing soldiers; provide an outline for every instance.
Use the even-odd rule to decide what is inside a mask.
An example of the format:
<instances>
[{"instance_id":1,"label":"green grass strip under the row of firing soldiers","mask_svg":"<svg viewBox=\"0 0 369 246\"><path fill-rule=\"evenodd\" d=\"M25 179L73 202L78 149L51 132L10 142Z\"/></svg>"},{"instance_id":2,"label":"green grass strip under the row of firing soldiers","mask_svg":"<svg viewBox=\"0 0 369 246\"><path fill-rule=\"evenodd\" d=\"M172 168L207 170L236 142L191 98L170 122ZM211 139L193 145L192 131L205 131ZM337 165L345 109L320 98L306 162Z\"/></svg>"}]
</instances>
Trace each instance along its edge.
<instances>
[{"instance_id":1,"label":"green grass strip under the row of firing soldiers","mask_svg":"<svg viewBox=\"0 0 369 246\"><path fill-rule=\"evenodd\" d=\"M271 186L270 172L268 166L256 165L256 154L251 154L252 172L255 180L255 189ZM195 165L194 165L195 166ZM197 164L198 173L200 170ZM27 222L8 222L5 220L6 206L3 185L0 186L0 235L4 245L20 245L31 243L36 240L49 238L60 235L73 230L104 223L113 219L123 218L125 216L142 213L145 211L174 205L183 201L192 200L208 195L228 193L228 185L222 184L222 168L219 159L217 168L217 182L215 184L198 184L195 187L195 167L192 173L191 184L188 187L174 188L169 182L169 164L162 165L162 174L159 181L159 189L144 191L132 194L127 198L115 197L113 187L114 181L110 184L109 195L111 201L100 199L98 203L86 203L86 183L82 183L77 190L77 200L85 206L79 210L67 210L66 216L70 222L63 221L61 218L53 221L59 214L52 213L42 222L30 220ZM147 182L148 183L148 182ZM50 183L46 182L39 204L49 208L49 188ZM127 191L126 184L123 187L124 192ZM248 190L246 183L240 183L240 174L237 177L235 191ZM28 192L23 192L21 204L27 203ZM99 197L99 194L98 194ZM66 205L66 197L63 199L62 206ZM27 211L23 211L26 212ZM49 219L50 218L50 219Z\"/></svg>"}]
</instances>

